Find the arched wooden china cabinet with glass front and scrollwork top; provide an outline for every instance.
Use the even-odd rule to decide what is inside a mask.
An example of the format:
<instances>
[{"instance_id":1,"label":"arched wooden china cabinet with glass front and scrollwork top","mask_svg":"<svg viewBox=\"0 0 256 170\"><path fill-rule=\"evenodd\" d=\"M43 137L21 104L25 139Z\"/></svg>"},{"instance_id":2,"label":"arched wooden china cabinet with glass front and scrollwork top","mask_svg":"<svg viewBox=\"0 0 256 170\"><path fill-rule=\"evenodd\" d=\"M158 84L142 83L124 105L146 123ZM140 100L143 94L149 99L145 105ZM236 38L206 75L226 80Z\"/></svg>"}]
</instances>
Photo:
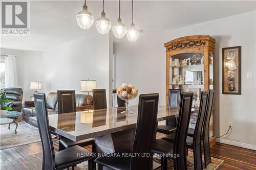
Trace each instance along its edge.
<instances>
[{"instance_id":1,"label":"arched wooden china cabinet with glass front and scrollwork top","mask_svg":"<svg viewBox=\"0 0 256 170\"><path fill-rule=\"evenodd\" d=\"M168 89L193 91L193 109L189 127L194 128L202 90L215 89L215 39L208 35L186 36L164 43L166 48L166 103ZM215 106L215 104L214 104ZM214 107L211 112L210 146L216 142Z\"/></svg>"}]
</instances>

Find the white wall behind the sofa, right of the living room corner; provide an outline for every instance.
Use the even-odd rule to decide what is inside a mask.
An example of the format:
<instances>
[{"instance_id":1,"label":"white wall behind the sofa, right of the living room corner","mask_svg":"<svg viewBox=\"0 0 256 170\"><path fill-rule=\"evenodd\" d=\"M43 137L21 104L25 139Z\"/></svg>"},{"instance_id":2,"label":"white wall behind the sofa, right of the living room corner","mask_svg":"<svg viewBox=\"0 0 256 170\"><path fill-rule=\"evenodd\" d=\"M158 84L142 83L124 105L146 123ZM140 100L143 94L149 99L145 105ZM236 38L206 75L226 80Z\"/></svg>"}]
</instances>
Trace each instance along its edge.
<instances>
[{"instance_id":1,"label":"white wall behind the sofa, right of the living room corner","mask_svg":"<svg viewBox=\"0 0 256 170\"><path fill-rule=\"evenodd\" d=\"M110 44L113 42L110 41L109 35L98 34L66 42L44 51L42 90L49 93L58 89L74 89L76 93L84 93L80 91L80 80L90 78L97 80L97 89L106 89L107 96L109 91L112 95L112 90L109 90L112 74L109 73L110 70L112 71ZM108 97L107 101L109 101Z\"/></svg>"}]
</instances>

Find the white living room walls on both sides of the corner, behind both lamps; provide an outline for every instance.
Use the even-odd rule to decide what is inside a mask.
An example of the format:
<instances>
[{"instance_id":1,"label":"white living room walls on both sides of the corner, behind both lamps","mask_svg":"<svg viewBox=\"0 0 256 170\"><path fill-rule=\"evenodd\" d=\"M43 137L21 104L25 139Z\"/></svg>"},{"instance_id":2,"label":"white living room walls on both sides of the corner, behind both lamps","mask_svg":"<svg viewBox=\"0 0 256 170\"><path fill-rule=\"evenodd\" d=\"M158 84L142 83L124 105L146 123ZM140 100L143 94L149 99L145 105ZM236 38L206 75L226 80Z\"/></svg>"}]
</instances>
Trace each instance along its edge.
<instances>
[{"instance_id":1,"label":"white living room walls on both sides of the corner, behind both lamps","mask_svg":"<svg viewBox=\"0 0 256 170\"><path fill-rule=\"evenodd\" d=\"M80 80L96 79L97 89L106 89L112 106L112 35L97 34L65 42L44 51L20 51L1 48L1 54L16 55L18 87L23 100L30 100L30 82L42 82L40 92L46 95L58 89L80 91ZM110 81L109 81L110 80Z\"/></svg>"}]
</instances>

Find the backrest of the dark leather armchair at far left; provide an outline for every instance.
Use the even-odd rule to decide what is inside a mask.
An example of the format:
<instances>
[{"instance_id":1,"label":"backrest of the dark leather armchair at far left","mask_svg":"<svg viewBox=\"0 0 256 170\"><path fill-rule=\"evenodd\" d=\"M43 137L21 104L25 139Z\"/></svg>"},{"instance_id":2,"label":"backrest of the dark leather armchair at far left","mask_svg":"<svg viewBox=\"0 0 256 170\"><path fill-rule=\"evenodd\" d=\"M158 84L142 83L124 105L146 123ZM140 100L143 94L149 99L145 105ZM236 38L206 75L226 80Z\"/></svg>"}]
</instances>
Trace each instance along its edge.
<instances>
[{"instance_id":1,"label":"backrest of the dark leather armchair at far left","mask_svg":"<svg viewBox=\"0 0 256 170\"><path fill-rule=\"evenodd\" d=\"M1 90L5 91L6 99L22 102L22 98L23 98L22 88L10 87L10 88L2 88Z\"/></svg>"}]
</instances>

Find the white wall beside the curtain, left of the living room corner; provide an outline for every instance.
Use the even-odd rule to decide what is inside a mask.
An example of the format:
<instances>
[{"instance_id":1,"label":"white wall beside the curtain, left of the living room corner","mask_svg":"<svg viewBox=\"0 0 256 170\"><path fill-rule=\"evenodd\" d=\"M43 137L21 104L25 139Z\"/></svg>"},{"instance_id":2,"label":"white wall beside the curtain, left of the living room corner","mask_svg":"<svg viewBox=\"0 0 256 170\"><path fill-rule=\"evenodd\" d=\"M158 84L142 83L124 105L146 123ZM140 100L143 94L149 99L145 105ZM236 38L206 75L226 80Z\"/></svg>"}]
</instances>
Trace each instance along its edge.
<instances>
[{"instance_id":1,"label":"white wall beside the curtain, left of the living room corner","mask_svg":"<svg viewBox=\"0 0 256 170\"><path fill-rule=\"evenodd\" d=\"M30 100L29 97L33 95L34 91L30 89L30 82L42 81L43 53L41 51L21 51L1 48L1 54L16 55L18 87L23 88L23 100Z\"/></svg>"}]
</instances>

